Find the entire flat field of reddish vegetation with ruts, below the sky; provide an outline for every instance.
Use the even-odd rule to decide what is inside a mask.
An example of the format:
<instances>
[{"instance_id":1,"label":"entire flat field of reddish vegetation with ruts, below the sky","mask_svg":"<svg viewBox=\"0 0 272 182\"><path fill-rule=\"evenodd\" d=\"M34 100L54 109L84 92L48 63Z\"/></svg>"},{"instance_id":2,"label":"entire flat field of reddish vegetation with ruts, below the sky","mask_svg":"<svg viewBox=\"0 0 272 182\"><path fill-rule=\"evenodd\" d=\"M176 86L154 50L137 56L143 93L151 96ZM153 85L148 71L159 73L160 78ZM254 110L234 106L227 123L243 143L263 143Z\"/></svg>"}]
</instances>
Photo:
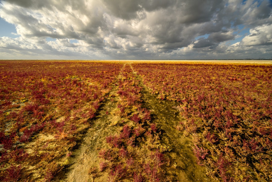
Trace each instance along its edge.
<instances>
[{"instance_id":1,"label":"entire flat field of reddish vegetation with ruts, below the sky","mask_svg":"<svg viewBox=\"0 0 272 182\"><path fill-rule=\"evenodd\" d=\"M0 61L0 181L271 181L252 63Z\"/></svg>"}]
</instances>

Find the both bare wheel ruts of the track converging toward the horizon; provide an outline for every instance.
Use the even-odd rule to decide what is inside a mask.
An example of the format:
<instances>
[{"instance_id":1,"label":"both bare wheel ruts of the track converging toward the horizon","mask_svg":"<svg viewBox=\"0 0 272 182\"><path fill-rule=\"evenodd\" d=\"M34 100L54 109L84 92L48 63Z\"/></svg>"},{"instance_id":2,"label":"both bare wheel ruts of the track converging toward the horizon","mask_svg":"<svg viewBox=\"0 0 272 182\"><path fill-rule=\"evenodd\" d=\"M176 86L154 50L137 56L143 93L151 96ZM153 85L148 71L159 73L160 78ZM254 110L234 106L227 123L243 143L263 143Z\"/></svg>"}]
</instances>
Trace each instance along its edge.
<instances>
[{"instance_id":1,"label":"both bare wheel ruts of the track converging toward the horizon","mask_svg":"<svg viewBox=\"0 0 272 182\"><path fill-rule=\"evenodd\" d=\"M130 64L131 66L131 64ZM131 66L132 70L133 67ZM134 71L134 70L133 70ZM134 74L139 80L141 77ZM117 78L120 78L120 75ZM117 82L116 81L116 82ZM116 83L115 82L115 83ZM116 122L120 122L124 118L115 116L114 111L116 102L119 97L115 97L118 87L113 84L113 89L109 93L109 97L101 105L96 117L92 119L92 126L87 130L81 146L73 152L73 157L68 161L68 168L58 175L59 179L68 182L93 182L106 181L107 173L100 173L98 178L93 179L88 175L90 167L99 165L98 152L101 148L106 148L107 143L105 137L117 132L118 127L114 127ZM175 106L175 102L161 101L152 95L148 88L141 81L142 90L142 107L152 110L152 122L156 123L162 132L162 144L169 146L172 150L166 153L170 158L170 166L165 167L166 174L172 177L173 181L211 181L205 175L205 168L196 164L196 158L192 152L192 142L190 137L184 137L182 133L176 130L175 125L182 118L179 116ZM114 95L114 97L110 97ZM176 164L176 168L173 165ZM128 180L124 180L128 181Z\"/></svg>"}]
</instances>

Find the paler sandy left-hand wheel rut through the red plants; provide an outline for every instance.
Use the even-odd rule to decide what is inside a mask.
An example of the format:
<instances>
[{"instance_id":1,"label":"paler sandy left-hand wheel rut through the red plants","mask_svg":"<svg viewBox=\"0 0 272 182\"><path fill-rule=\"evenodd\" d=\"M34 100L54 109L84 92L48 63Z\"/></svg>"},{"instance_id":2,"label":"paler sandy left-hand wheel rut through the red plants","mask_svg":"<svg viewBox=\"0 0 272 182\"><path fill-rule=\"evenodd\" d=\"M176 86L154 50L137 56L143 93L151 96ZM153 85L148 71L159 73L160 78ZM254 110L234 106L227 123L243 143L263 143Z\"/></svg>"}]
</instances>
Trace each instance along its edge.
<instances>
[{"instance_id":1,"label":"paler sandy left-hand wheel rut through the red plants","mask_svg":"<svg viewBox=\"0 0 272 182\"><path fill-rule=\"evenodd\" d=\"M118 75L116 81L112 84L113 88L100 106L96 117L91 120L92 126L87 130L80 147L73 152L72 157L68 161L68 168L64 169L57 178L68 182L94 181L94 179L88 175L88 170L90 167L98 166L99 160L97 156L99 149L106 147L105 137L116 132L116 128L112 127L112 124L120 120L120 117L113 116L110 113L116 107L118 98L111 96L117 93L115 83L119 77L120 75ZM106 177L107 176L100 176L101 181L106 181ZM58 181L57 178L55 179L56 181Z\"/></svg>"}]
</instances>

